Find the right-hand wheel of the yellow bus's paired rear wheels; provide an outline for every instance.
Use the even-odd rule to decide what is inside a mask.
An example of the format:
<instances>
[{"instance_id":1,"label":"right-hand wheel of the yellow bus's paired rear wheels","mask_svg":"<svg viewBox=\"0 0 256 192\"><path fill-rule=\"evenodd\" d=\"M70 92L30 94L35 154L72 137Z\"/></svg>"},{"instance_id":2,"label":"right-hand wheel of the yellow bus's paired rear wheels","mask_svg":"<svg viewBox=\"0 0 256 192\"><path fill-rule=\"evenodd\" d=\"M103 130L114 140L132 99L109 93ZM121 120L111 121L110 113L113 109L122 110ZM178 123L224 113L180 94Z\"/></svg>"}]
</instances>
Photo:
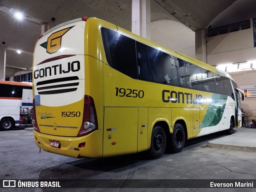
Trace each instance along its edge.
<instances>
[{"instance_id":1,"label":"right-hand wheel of the yellow bus's paired rear wheels","mask_svg":"<svg viewBox=\"0 0 256 192\"><path fill-rule=\"evenodd\" d=\"M180 123L174 125L172 133L172 150L173 152L181 152L185 144L185 132Z\"/></svg>"}]
</instances>

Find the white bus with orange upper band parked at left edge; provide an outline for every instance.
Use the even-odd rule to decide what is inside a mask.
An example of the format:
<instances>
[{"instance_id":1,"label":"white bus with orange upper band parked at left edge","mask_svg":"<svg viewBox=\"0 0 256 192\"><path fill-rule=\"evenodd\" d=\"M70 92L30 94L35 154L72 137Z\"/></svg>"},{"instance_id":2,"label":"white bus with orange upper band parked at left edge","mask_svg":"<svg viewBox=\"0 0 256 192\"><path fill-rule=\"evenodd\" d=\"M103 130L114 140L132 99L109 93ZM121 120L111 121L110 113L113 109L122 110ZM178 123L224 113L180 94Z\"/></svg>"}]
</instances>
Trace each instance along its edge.
<instances>
[{"instance_id":1,"label":"white bus with orange upper band parked at left edge","mask_svg":"<svg viewBox=\"0 0 256 192\"><path fill-rule=\"evenodd\" d=\"M32 83L0 81L0 129L32 124Z\"/></svg>"}]
</instances>

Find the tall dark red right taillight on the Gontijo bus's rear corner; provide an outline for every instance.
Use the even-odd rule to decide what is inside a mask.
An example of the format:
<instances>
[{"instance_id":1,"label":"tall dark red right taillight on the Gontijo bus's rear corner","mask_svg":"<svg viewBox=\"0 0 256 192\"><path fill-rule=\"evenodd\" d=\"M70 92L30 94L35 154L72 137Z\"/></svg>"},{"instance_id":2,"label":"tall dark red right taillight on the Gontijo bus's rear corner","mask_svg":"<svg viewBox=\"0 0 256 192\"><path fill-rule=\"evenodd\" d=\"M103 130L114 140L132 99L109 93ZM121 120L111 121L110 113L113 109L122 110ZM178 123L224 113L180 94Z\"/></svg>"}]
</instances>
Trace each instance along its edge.
<instances>
[{"instance_id":1,"label":"tall dark red right taillight on the Gontijo bus's rear corner","mask_svg":"<svg viewBox=\"0 0 256 192\"><path fill-rule=\"evenodd\" d=\"M88 135L98 129L96 109L92 97L84 95L84 115L78 137Z\"/></svg>"}]
</instances>

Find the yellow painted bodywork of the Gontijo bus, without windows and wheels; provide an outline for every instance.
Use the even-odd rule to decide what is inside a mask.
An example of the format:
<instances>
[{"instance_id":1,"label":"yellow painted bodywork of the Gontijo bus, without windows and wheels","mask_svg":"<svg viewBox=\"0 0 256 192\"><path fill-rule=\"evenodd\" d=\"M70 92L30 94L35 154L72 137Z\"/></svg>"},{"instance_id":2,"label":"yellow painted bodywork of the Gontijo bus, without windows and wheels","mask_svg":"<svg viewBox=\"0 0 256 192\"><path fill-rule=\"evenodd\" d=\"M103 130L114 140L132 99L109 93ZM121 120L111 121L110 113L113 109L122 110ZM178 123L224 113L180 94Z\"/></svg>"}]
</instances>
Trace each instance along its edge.
<instances>
[{"instance_id":1,"label":"yellow painted bodywork of the Gontijo bus, without windows and wheels","mask_svg":"<svg viewBox=\"0 0 256 192\"><path fill-rule=\"evenodd\" d=\"M197 95L202 95L204 99L211 99L212 93L132 79L113 69L106 60L100 32L101 27L119 32L154 48L159 48L210 71L221 73L210 65L170 51L118 28L114 24L96 18L88 18L84 29L84 55L81 56L84 59L84 79L79 81L84 81L84 95L89 95L94 100L98 130L83 137L76 137L82 124L84 97L69 105L56 107L41 105L36 107L36 118L41 133L34 131L35 142L38 147L48 152L66 156L95 158L148 150L152 129L159 122L166 125L165 129L169 133L173 132L173 127L177 121L184 122L186 139L200 136L203 128L208 128L205 133L211 133L210 123L208 124L205 120L206 114L209 113L209 102L193 104L191 101L196 100ZM71 33L72 29L66 34ZM37 64L38 62L34 61L34 67ZM80 84L82 85L82 83ZM126 91L123 97L120 97L119 89ZM192 96L185 95L184 99L181 96L177 103L163 102L163 100L168 100L171 91L189 93ZM130 93L128 96L131 97L127 96L128 93ZM135 97L136 94L138 97ZM35 98L34 95L33 97ZM41 99L44 99L44 95L41 96ZM218 102L216 101L216 103ZM67 109L68 111L80 111L81 116L60 117L61 112ZM40 111L51 113L52 117L55 118L41 119L42 115L38 113ZM44 127L44 125L52 125L53 127ZM57 127L54 129L56 126L62 125L74 128ZM49 140L60 141L61 148L51 147ZM74 150L74 148L78 148L78 144L83 142L86 143L84 148Z\"/></svg>"}]
</instances>

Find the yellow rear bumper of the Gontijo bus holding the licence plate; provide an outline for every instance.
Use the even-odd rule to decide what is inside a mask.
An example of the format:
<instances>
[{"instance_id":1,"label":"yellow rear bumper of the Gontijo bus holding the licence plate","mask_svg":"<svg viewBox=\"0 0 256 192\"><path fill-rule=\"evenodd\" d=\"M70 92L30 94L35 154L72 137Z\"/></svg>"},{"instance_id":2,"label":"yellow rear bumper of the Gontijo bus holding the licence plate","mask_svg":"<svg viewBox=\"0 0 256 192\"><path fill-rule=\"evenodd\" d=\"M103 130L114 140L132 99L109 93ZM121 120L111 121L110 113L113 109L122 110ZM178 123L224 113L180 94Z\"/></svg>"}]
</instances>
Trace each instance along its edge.
<instances>
[{"instance_id":1,"label":"yellow rear bumper of the Gontijo bus holding the licence plate","mask_svg":"<svg viewBox=\"0 0 256 192\"><path fill-rule=\"evenodd\" d=\"M102 157L102 136L103 130L96 130L83 137L62 137L48 135L34 131L36 145L42 150L70 156L74 158L97 158ZM50 146L50 141L58 141L59 147ZM78 147L80 143L85 143L84 147Z\"/></svg>"}]
</instances>

